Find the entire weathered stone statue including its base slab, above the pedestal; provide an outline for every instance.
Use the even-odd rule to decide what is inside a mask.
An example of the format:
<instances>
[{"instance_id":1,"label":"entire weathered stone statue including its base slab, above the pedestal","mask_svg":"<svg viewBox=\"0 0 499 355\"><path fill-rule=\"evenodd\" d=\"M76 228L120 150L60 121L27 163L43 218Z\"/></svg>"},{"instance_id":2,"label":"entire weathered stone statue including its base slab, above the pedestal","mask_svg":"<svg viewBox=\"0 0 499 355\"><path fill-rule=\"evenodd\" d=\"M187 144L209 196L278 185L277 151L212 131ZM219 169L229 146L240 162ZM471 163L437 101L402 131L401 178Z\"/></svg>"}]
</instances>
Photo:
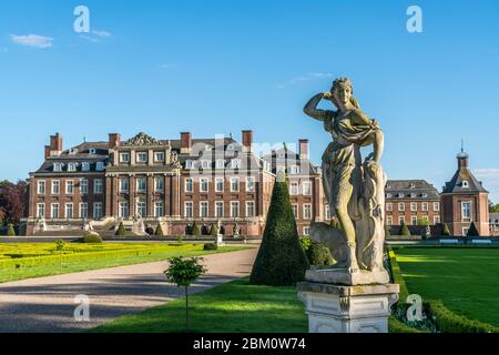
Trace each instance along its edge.
<instances>
[{"instance_id":1,"label":"entire weathered stone statue including its base slab, above the pedestal","mask_svg":"<svg viewBox=\"0 0 499 355\"><path fill-rule=\"evenodd\" d=\"M334 81L330 92L313 97L305 113L324 124L333 142L323 155L324 191L339 222L336 226L313 223L310 236L330 251L337 264L307 272L312 282L346 285L385 284L389 276L383 265L385 241L385 184L380 165L384 135L353 95L347 78ZM320 110L322 100L336 111ZM373 145L363 161L360 148ZM338 227L339 226L339 227Z\"/></svg>"}]
</instances>

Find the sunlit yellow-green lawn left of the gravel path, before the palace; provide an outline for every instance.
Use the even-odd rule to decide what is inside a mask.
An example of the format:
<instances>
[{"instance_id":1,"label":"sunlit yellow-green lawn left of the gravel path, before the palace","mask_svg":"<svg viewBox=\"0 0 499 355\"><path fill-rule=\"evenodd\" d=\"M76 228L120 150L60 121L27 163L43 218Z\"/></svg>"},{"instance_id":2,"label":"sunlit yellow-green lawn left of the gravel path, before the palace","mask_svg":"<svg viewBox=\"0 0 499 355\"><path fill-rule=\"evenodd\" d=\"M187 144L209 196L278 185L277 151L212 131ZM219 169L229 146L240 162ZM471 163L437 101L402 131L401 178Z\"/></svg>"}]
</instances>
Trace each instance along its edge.
<instances>
[{"instance_id":1,"label":"sunlit yellow-green lawn left of the gravel path, before the palace","mask_svg":"<svg viewBox=\"0 0 499 355\"><path fill-rule=\"evenodd\" d=\"M60 255L55 243L6 243L0 244L0 283L244 248L247 247L225 246L218 251L203 251L203 244L72 243L65 244Z\"/></svg>"}]
</instances>

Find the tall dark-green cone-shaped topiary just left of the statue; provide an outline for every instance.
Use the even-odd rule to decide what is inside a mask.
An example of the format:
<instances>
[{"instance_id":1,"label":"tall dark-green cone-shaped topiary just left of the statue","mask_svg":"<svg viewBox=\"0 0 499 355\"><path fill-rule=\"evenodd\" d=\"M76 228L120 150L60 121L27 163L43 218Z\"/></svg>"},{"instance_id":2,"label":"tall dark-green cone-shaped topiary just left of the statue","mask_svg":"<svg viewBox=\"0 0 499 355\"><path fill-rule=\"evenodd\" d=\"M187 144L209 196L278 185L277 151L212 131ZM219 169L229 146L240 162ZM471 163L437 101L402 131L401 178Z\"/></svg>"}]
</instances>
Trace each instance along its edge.
<instances>
[{"instance_id":1,"label":"tall dark-green cone-shaped topiary just left of the statue","mask_svg":"<svg viewBox=\"0 0 499 355\"><path fill-rule=\"evenodd\" d=\"M309 267L302 248L284 174L277 175L262 245L253 266L253 285L294 286Z\"/></svg>"}]
</instances>

